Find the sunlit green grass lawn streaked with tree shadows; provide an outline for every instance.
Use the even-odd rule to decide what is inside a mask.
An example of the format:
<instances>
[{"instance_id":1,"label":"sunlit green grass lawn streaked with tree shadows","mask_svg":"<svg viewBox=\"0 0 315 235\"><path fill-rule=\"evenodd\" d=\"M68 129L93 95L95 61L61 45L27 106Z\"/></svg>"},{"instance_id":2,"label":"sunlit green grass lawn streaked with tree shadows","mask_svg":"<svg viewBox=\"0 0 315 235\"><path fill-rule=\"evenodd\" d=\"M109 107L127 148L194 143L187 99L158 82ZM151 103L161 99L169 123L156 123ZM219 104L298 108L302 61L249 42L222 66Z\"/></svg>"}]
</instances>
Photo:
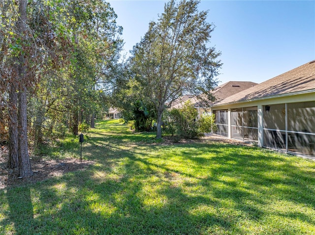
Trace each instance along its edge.
<instances>
[{"instance_id":1,"label":"sunlit green grass lawn streaked with tree shadows","mask_svg":"<svg viewBox=\"0 0 315 235\"><path fill-rule=\"evenodd\" d=\"M0 190L0 234L315 234L314 161L210 140L152 144L154 136L98 122L83 144L94 165ZM71 141L50 156L79 160Z\"/></svg>"}]
</instances>

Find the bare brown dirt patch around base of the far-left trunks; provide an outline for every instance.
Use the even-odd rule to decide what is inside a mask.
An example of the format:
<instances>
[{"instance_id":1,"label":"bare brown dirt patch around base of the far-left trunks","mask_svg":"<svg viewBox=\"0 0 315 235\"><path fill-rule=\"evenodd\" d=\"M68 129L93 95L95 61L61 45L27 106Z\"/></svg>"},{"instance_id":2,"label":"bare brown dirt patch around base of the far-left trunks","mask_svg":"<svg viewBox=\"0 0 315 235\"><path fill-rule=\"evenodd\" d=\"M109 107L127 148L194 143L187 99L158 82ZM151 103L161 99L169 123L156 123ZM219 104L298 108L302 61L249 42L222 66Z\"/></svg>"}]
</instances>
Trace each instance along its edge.
<instances>
[{"instance_id":1,"label":"bare brown dirt patch around base of the far-left trunks","mask_svg":"<svg viewBox=\"0 0 315 235\"><path fill-rule=\"evenodd\" d=\"M7 163L7 149L0 150L0 189L14 185L24 185L29 183L36 183L44 181L49 178L59 177L67 172L83 170L87 166L94 164L94 161L87 161L77 158L65 159L43 159L32 158L31 165L33 176L30 178L19 179L18 172L6 167Z\"/></svg>"}]
</instances>

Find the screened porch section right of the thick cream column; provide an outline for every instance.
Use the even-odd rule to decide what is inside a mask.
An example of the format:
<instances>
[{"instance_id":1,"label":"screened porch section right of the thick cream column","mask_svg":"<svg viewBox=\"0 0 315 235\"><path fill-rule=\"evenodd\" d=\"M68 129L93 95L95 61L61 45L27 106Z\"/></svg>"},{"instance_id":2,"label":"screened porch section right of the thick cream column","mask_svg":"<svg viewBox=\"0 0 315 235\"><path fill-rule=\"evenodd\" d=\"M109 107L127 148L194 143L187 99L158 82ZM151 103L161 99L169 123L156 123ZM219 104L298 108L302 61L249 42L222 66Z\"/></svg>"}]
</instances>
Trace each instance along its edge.
<instances>
[{"instance_id":1,"label":"screened porch section right of the thick cream column","mask_svg":"<svg viewBox=\"0 0 315 235\"><path fill-rule=\"evenodd\" d=\"M288 153L315 153L315 101L266 105L263 146Z\"/></svg>"}]
</instances>

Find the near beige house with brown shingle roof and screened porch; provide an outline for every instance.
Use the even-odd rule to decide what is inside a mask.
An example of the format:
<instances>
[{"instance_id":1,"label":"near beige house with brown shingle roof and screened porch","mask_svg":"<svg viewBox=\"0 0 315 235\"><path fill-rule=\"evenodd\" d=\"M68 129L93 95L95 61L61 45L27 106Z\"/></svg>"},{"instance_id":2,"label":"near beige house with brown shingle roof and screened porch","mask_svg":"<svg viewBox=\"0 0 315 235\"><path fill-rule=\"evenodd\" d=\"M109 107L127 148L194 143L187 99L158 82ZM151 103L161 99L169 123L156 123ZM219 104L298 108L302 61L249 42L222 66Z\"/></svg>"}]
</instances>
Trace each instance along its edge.
<instances>
[{"instance_id":1,"label":"near beige house with brown shingle roof and screened porch","mask_svg":"<svg viewBox=\"0 0 315 235\"><path fill-rule=\"evenodd\" d=\"M315 60L212 105L217 134L315 156Z\"/></svg>"}]
</instances>

